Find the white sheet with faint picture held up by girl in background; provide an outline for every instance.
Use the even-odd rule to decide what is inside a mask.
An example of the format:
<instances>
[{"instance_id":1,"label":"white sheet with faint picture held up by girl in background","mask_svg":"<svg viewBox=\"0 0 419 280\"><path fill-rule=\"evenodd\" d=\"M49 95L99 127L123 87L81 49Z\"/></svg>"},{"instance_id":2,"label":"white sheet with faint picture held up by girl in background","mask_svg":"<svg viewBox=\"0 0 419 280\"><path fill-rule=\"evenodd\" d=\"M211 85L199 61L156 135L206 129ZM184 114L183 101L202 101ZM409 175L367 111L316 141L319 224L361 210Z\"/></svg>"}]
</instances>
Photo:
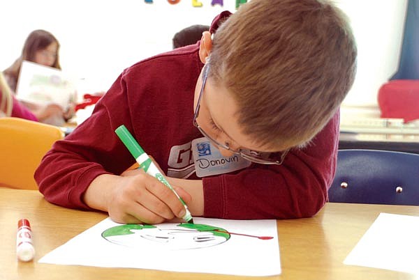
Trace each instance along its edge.
<instances>
[{"instance_id":1,"label":"white sheet with faint picture held up by girl in background","mask_svg":"<svg viewBox=\"0 0 419 280\"><path fill-rule=\"evenodd\" d=\"M45 106L55 103L64 111L68 104L75 102L75 83L57 69L30 61L23 61L16 88L17 98Z\"/></svg>"}]
</instances>

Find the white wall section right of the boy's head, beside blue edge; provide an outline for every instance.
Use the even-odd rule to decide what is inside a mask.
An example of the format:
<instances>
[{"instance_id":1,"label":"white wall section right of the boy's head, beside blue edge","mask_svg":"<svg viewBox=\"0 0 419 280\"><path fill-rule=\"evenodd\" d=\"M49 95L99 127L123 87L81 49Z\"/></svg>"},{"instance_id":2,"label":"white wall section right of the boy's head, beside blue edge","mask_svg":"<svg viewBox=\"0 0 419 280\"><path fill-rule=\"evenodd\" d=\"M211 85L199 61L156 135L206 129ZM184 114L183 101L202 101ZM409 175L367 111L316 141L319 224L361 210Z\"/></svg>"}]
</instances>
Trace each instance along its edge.
<instances>
[{"instance_id":1,"label":"white wall section right of the boy's head, beside blue edge","mask_svg":"<svg viewBox=\"0 0 419 280\"><path fill-rule=\"evenodd\" d=\"M378 116L378 89L399 65L407 0L335 2L350 18L358 45L358 72L343 107L373 109Z\"/></svg>"}]
</instances>

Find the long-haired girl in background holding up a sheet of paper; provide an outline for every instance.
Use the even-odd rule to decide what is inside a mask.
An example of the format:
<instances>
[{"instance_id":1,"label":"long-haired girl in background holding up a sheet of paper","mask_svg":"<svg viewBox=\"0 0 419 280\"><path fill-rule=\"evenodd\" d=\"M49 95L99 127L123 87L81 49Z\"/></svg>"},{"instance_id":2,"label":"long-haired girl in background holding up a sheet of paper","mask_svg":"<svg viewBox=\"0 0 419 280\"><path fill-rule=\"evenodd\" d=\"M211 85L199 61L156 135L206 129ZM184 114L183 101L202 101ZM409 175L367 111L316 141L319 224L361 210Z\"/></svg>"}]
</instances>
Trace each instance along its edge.
<instances>
[{"instance_id":1,"label":"long-haired girl in background holding up a sheet of paper","mask_svg":"<svg viewBox=\"0 0 419 280\"><path fill-rule=\"evenodd\" d=\"M22 55L3 71L8 85L13 92L16 91L17 81L19 80L22 61L31 61L41 65L57 68L59 65L59 42L50 32L45 30L32 31L24 42ZM22 102L35 116L43 123L52 125L62 125L74 114L74 105L64 112L57 104L50 104L47 107L38 106L29 102Z\"/></svg>"}]
</instances>

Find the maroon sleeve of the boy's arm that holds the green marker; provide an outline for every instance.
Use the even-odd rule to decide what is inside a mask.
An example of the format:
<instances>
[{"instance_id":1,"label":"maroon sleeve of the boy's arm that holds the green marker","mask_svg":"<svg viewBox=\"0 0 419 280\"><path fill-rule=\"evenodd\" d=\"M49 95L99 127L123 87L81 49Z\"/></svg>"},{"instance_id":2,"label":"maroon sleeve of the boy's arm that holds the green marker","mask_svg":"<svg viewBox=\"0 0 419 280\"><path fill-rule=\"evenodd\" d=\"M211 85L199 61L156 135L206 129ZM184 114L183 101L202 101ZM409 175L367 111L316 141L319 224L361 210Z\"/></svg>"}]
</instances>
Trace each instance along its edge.
<instances>
[{"instance_id":1,"label":"maroon sleeve of the boy's arm that holds the green marker","mask_svg":"<svg viewBox=\"0 0 419 280\"><path fill-rule=\"evenodd\" d=\"M122 124L131 130L127 103L126 83L121 75L98 101L93 114L64 140L54 143L34 174L47 201L67 208L90 209L82 196L91 181L101 174L122 173L129 166L123 159L127 152L114 135Z\"/></svg>"}]
</instances>

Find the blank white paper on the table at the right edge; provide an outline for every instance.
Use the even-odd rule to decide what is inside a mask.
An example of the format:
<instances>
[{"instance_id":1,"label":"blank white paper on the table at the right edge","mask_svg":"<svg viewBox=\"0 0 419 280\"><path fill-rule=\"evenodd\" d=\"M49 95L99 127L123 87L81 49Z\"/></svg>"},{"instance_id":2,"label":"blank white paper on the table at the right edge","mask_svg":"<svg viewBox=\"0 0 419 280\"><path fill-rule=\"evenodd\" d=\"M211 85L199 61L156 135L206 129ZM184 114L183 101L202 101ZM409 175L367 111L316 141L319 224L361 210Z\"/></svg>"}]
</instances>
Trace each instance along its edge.
<instances>
[{"instance_id":1,"label":"blank white paper on the table at the right edge","mask_svg":"<svg viewBox=\"0 0 419 280\"><path fill-rule=\"evenodd\" d=\"M346 257L346 265L419 275L419 217L381 213Z\"/></svg>"}]
</instances>

